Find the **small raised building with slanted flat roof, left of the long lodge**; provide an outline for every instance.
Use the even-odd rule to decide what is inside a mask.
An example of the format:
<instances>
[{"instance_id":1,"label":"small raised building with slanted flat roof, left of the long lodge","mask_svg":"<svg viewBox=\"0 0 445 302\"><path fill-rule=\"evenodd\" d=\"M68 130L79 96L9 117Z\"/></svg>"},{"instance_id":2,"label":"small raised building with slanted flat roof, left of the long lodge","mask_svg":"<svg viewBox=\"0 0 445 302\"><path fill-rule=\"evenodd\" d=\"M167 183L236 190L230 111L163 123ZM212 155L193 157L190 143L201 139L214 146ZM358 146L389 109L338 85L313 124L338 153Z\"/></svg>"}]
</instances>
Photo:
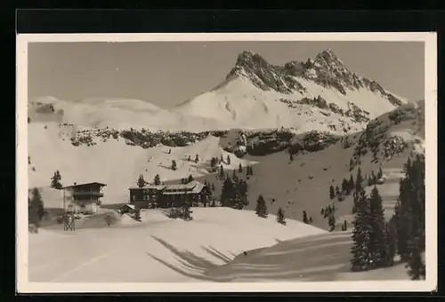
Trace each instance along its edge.
<instances>
[{"instance_id":1,"label":"small raised building with slanted flat roof, left of the long lodge","mask_svg":"<svg viewBox=\"0 0 445 302\"><path fill-rule=\"evenodd\" d=\"M97 213L101 206L101 197L103 197L101 189L105 186L107 185L99 182L90 182L62 187L64 211L83 214Z\"/></svg>"}]
</instances>

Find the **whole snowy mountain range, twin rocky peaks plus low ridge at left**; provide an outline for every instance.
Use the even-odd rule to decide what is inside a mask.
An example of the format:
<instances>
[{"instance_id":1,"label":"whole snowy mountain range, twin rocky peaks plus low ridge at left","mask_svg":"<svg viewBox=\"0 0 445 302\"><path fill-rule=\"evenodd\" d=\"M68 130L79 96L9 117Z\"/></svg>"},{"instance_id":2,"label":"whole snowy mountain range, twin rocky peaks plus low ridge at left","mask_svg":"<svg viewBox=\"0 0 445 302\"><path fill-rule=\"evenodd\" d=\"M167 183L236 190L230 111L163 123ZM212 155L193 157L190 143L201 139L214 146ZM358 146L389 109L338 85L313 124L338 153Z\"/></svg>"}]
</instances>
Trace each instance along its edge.
<instances>
[{"instance_id":1,"label":"whole snowy mountain range, twin rocky peaks plus low ridge at left","mask_svg":"<svg viewBox=\"0 0 445 302\"><path fill-rule=\"evenodd\" d=\"M137 99L30 99L31 121L83 127L209 131L293 127L349 133L405 99L346 68L331 50L305 63L272 66L241 52L231 73L212 91L162 109Z\"/></svg>"}]
</instances>

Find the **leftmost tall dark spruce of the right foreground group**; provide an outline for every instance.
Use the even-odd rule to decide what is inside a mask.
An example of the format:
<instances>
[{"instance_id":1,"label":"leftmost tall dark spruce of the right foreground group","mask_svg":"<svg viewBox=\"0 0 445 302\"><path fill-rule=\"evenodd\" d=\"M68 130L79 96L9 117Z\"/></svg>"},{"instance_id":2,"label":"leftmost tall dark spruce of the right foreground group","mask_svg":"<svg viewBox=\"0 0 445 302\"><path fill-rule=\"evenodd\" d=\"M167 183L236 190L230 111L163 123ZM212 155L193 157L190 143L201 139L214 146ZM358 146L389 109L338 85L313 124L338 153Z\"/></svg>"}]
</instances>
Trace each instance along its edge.
<instances>
[{"instance_id":1,"label":"leftmost tall dark spruce of the right foreground group","mask_svg":"<svg viewBox=\"0 0 445 302\"><path fill-rule=\"evenodd\" d=\"M360 190L358 196L352 231L352 271L363 271L369 268L369 203L363 189Z\"/></svg>"}]
</instances>

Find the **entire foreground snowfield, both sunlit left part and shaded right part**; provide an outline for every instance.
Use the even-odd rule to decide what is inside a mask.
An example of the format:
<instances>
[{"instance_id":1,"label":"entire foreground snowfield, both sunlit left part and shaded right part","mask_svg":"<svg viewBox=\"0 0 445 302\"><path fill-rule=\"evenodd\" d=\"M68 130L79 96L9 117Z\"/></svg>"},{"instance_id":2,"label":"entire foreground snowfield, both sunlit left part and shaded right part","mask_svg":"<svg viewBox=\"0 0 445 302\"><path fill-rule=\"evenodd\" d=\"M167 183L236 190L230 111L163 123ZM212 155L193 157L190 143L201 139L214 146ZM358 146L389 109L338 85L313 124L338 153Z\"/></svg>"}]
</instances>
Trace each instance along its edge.
<instances>
[{"instance_id":1,"label":"entire foreground snowfield, both sunlit left part and shaded right part","mask_svg":"<svg viewBox=\"0 0 445 302\"><path fill-rule=\"evenodd\" d=\"M41 228L39 234L28 234L29 281L354 279L355 273L347 273L352 243L349 232L329 234L290 219L282 226L274 215L261 219L251 211L192 210L194 219L187 222L149 210L142 212L142 222L124 215L106 227L104 214L99 214L77 221L74 232L64 232L61 225ZM403 266L378 272L360 273L360 280L408 279Z\"/></svg>"}]
</instances>

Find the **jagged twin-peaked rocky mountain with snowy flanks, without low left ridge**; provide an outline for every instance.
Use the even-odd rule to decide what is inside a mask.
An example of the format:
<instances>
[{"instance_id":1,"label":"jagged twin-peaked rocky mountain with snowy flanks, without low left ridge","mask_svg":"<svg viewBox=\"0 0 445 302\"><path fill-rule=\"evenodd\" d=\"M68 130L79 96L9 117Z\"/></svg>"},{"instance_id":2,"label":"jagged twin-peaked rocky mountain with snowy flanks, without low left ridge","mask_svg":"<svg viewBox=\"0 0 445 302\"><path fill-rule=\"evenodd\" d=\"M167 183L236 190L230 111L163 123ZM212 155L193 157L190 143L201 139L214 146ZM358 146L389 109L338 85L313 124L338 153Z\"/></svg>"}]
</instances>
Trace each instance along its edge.
<instances>
[{"instance_id":1,"label":"jagged twin-peaked rocky mountain with snowy flanks, without low left ridge","mask_svg":"<svg viewBox=\"0 0 445 302\"><path fill-rule=\"evenodd\" d=\"M334 131L331 125L341 133L359 131L369 119L406 102L351 72L331 50L283 67L242 52L223 83L173 112L218 119L232 128Z\"/></svg>"}]
</instances>

